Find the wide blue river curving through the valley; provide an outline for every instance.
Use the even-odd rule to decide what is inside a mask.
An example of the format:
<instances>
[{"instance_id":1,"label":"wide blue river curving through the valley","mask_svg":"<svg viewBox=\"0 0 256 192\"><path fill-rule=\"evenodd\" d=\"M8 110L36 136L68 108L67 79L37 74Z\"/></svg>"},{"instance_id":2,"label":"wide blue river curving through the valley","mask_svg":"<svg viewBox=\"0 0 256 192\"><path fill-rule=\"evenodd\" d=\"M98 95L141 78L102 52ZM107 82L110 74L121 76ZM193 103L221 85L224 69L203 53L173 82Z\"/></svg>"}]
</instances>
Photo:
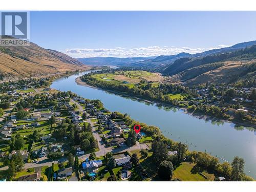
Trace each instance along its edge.
<instances>
[{"instance_id":1,"label":"wide blue river curving through the valley","mask_svg":"<svg viewBox=\"0 0 256 192\"><path fill-rule=\"evenodd\" d=\"M110 111L127 113L131 118L160 127L163 135L186 143L190 151L202 151L231 163L234 156L245 160L245 174L256 178L256 130L233 123L199 119L178 108L78 85L75 79L90 71L61 77L51 88L72 91L88 99L100 99Z\"/></svg>"}]
</instances>

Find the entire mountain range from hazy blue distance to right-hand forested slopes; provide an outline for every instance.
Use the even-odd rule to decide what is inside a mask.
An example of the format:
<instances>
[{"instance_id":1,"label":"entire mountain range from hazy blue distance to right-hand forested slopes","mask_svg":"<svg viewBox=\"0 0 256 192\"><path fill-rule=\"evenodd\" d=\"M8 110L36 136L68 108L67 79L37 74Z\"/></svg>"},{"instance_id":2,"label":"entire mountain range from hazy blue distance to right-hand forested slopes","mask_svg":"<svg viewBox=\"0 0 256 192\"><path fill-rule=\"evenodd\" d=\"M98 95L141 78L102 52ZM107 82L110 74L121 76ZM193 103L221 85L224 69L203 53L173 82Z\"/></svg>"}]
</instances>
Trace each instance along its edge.
<instances>
[{"instance_id":1,"label":"entire mountain range from hazy blue distance to right-hand forested slopes","mask_svg":"<svg viewBox=\"0 0 256 192\"><path fill-rule=\"evenodd\" d=\"M131 69L160 72L173 82L189 86L208 82L235 82L256 77L256 41L242 42L231 47L213 49L197 54L179 53L157 57L94 57L79 58L90 65L117 65ZM255 82L256 83L256 82Z\"/></svg>"}]
</instances>

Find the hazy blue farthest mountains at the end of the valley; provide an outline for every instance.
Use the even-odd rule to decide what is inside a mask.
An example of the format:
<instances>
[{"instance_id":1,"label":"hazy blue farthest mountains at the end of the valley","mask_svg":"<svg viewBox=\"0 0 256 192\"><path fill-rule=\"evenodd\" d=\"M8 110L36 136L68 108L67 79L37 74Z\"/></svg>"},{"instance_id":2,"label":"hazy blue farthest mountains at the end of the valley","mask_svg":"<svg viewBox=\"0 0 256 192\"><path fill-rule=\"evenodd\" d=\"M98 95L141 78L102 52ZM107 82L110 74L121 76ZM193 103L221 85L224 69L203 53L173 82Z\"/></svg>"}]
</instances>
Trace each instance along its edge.
<instances>
[{"instance_id":1,"label":"hazy blue farthest mountains at the end of the valley","mask_svg":"<svg viewBox=\"0 0 256 192\"><path fill-rule=\"evenodd\" d=\"M89 58L76 58L78 61L86 65L96 66L119 66L129 65L130 63L139 62L147 59L153 59L156 57L89 57Z\"/></svg>"}]
</instances>

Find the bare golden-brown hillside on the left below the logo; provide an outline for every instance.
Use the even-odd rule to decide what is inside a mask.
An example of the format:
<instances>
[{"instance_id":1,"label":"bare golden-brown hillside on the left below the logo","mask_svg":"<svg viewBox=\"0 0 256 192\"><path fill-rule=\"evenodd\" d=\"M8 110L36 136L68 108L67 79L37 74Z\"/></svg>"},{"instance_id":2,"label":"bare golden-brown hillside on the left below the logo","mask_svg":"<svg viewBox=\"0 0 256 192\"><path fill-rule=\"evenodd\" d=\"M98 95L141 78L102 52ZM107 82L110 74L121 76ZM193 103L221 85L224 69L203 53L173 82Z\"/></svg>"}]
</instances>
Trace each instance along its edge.
<instances>
[{"instance_id":1,"label":"bare golden-brown hillside on the left below the logo","mask_svg":"<svg viewBox=\"0 0 256 192\"><path fill-rule=\"evenodd\" d=\"M66 71L86 70L88 66L54 50L30 42L27 47L0 47L0 79L42 76Z\"/></svg>"}]
</instances>

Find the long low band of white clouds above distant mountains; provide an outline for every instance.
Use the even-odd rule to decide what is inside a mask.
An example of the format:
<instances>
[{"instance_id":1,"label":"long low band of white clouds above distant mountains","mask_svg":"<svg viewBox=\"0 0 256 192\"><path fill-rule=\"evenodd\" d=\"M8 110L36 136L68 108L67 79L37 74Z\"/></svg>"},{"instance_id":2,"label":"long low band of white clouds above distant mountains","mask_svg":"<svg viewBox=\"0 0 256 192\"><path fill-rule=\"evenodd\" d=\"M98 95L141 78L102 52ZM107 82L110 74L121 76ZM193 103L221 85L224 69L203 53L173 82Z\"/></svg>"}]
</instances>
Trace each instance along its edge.
<instances>
[{"instance_id":1,"label":"long low band of white clouds above distant mountains","mask_svg":"<svg viewBox=\"0 0 256 192\"><path fill-rule=\"evenodd\" d=\"M114 49L87 49L87 48L73 48L62 51L72 57L146 57L146 56L158 56L158 55L174 55L181 52L190 54L201 53L211 49L220 49L229 47L226 45L219 45L217 47L210 48L189 48L189 47L174 47L174 46L150 46L150 47L139 47L139 48L122 48L116 47Z\"/></svg>"}]
</instances>

